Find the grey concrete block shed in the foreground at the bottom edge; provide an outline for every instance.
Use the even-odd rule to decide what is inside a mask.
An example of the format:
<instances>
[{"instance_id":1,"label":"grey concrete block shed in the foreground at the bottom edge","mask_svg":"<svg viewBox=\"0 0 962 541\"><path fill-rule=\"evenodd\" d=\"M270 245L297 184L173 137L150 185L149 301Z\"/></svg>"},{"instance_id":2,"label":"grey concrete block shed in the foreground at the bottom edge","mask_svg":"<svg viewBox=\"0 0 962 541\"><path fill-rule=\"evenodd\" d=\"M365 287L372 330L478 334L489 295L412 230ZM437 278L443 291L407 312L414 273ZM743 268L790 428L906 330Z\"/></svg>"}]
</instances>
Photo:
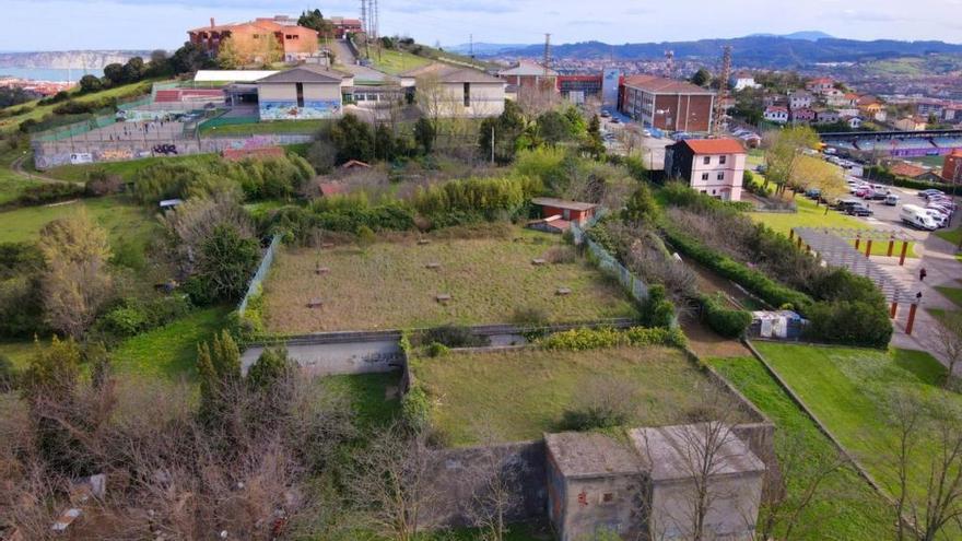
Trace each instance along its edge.
<instances>
[{"instance_id":1,"label":"grey concrete block shed in the foreground at the bottom edge","mask_svg":"<svg viewBox=\"0 0 962 541\"><path fill-rule=\"evenodd\" d=\"M626 436L544 436L548 515L560 541L603 531L626 540L693 539L696 515L706 541L752 538L766 467L732 427L699 423ZM702 510L699 491L708 496Z\"/></svg>"}]
</instances>

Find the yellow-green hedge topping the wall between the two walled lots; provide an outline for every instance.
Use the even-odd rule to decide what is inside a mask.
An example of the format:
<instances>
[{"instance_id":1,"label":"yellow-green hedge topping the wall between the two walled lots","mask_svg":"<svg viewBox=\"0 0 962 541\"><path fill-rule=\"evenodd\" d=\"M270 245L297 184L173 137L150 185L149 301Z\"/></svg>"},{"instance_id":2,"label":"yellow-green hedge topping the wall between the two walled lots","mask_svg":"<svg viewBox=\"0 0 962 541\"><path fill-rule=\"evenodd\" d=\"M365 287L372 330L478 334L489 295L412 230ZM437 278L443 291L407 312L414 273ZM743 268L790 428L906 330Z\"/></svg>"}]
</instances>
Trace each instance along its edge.
<instances>
[{"instance_id":1,"label":"yellow-green hedge topping the wall between the two walled lots","mask_svg":"<svg viewBox=\"0 0 962 541\"><path fill-rule=\"evenodd\" d=\"M599 329L572 329L556 332L539 340L538 345L545 350L586 351L619 345L667 345L684 348L688 339L679 328L632 327L618 330L611 327Z\"/></svg>"}]
</instances>

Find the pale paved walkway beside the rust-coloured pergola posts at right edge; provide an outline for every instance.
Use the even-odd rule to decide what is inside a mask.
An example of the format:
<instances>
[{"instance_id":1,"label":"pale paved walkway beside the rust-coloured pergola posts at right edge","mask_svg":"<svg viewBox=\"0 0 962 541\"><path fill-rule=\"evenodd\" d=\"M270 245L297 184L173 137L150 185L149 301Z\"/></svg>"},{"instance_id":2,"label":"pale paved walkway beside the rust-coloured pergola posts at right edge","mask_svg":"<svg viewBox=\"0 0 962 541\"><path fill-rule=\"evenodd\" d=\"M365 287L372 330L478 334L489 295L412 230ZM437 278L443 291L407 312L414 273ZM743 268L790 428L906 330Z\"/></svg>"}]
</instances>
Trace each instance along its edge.
<instances>
[{"instance_id":1,"label":"pale paved walkway beside the rust-coloured pergola posts at right edge","mask_svg":"<svg viewBox=\"0 0 962 541\"><path fill-rule=\"evenodd\" d=\"M960 226L959 222L962 222L962 216L957 216L955 227ZM919 257L906 259L904 267L899 267L895 258L873 258L907 291L922 292L922 305L916 313L912 336L905 334L908 307L900 306L891 344L895 348L926 351L946 363L945 357L938 353L938 339L935 334L937 322L928 310L960 309L935 287L962 287L962 262L955 259L955 246L936 235L928 235L924 243L916 245L915 250ZM927 273L924 282L918 280L918 271L923 267ZM962 365L955 367L955 375L962 377Z\"/></svg>"}]
</instances>

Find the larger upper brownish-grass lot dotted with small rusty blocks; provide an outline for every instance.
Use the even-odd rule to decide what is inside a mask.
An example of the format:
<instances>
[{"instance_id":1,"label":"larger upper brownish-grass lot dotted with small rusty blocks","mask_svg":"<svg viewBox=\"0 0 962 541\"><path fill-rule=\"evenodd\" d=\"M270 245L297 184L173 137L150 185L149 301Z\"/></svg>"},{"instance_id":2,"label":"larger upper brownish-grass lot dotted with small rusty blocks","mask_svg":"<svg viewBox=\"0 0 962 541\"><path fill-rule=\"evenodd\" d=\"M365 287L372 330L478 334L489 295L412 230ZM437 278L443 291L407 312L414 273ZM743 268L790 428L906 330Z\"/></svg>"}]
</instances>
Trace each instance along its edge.
<instances>
[{"instance_id":1,"label":"larger upper brownish-grass lot dotted with small rusty blocks","mask_svg":"<svg viewBox=\"0 0 962 541\"><path fill-rule=\"evenodd\" d=\"M414 238L366 249L295 249L281 254L265 287L267 327L296 333L396 329L443 324L501 324L533 308L549 321L633 317L617 283L582 258L533 266L570 250L560 237L517 230L515 238ZM439 263L429 269L429 263ZM316 268L326 267L326 274ZM571 289L558 295L559 287ZM439 303L438 294L451 299ZM308 308L312 298L324 305Z\"/></svg>"}]
</instances>

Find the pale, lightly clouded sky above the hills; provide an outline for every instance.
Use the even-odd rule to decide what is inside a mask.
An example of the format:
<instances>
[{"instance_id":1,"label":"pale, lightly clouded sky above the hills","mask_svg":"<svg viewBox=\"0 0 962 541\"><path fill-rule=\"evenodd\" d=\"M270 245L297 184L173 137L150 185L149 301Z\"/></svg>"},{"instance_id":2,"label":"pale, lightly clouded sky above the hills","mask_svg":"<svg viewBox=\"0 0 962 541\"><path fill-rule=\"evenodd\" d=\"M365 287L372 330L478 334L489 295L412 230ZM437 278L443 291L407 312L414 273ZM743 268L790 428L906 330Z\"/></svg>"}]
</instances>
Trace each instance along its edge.
<instances>
[{"instance_id":1,"label":"pale, lightly clouded sky above the hills","mask_svg":"<svg viewBox=\"0 0 962 541\"><path fill-rule=\"evenodd\" d=\"M361 0L0 0L0 50L175 49L188 28ZM910 9L911 5L911 9ZM380 34L421 43L609 44L822 31L855 39L962 43L962 0L379 0Z\"/></svg>"}]
</instances>

